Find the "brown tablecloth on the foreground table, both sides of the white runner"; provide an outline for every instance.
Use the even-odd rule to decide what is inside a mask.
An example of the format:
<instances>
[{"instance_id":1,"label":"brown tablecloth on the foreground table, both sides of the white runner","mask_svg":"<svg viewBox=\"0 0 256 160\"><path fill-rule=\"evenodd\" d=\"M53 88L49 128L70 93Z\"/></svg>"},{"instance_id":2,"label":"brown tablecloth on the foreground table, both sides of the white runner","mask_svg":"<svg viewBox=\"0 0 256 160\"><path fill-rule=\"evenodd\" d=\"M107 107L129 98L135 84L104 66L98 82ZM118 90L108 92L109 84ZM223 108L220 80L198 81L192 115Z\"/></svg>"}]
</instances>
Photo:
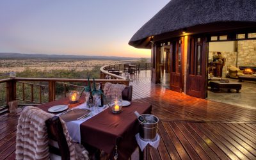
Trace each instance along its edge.
<instances>
[{"instance_id":1,"label":"brown tablecloth on the foreground table, both sides of the white runner","mask_svg":"<svg viewBox=\"0 0 256 160\"><path fill-rule=\"evenodd\" d=\"M47 112L56 105L76 108L84 101L85 96L81 96L76 104L70 104L67 97L41 104L38 108ZM152 106L147 102L131 102L130 106L123 107L117 114L113 113L111 108L104 109L80 125L81 144L98 148L112 156L117 153L118 159L129 159L138 147L135 135L139 132L139 122L134 111L141 115L150 114L151 110Z\"/></svg>"}]
</instances>

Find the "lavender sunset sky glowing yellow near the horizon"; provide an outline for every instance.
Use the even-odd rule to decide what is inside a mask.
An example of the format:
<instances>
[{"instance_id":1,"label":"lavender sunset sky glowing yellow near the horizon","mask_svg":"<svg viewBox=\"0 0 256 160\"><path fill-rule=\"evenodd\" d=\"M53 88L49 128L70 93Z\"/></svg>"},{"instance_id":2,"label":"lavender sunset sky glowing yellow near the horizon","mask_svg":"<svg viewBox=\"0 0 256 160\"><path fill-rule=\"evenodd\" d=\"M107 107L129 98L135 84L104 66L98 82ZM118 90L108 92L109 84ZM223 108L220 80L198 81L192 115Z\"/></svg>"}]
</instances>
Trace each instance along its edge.
<instances>
[{"instance_id":1,"label":"lavender sunset sky glowing yellow near the horizon","mask_svg":"<svg viewBox=\"0 0 256 160\"><path fill-rule=\"evenodd\" d=\"M0 52L150 57L128 45L168 0L2 0Z\"/></svg>"}]
</instances>

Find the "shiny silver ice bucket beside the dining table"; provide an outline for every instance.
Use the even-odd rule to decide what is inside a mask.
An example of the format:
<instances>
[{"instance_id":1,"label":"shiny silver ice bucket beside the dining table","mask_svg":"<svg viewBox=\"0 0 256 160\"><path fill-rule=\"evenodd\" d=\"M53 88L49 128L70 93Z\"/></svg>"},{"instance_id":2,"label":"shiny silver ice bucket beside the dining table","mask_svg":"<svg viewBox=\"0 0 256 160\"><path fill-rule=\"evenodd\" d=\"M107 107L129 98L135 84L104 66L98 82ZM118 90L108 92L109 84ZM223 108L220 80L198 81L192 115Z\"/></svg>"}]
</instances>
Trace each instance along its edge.
<instances>
[{"instance_id":1,"label":"shiny silver ice bucket beside the dining table","mask_svg":"<svg viewBox=\"0 0 256 160\"><path fill-rule=\"evenodd\" d=\"M143 118L140 118L140 117ZM141 119L143 122L141 122ZM156 138L157 133L157 123L159 119L154 115L140 115L138 117L138 121L140 122L140 138L145 141L152 141Z\"/></svg>"}]
</instances>

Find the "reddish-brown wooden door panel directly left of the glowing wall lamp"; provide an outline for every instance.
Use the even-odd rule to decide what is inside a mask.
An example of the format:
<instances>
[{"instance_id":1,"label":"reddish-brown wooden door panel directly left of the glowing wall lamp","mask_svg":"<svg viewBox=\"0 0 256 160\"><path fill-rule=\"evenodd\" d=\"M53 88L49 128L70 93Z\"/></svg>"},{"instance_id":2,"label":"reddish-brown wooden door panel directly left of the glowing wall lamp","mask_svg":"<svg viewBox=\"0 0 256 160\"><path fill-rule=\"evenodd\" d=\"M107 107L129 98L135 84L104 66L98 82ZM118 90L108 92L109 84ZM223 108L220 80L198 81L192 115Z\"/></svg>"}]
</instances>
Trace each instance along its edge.
<instances>
[{"instance_id":1,"label":"reddish-brown wooden door panel directly left of the glowing wall lamp","mask_svg":"<svg viewBox=\"0 0 256 160\"><path fill-rule=\"evenodd\" d=\"M182 66L183 66L183 45L184 38L173 42L170 46L171 64L170 64L170 90L182 92L183 79L182 79Z\"/></svg>"}]
</instances>

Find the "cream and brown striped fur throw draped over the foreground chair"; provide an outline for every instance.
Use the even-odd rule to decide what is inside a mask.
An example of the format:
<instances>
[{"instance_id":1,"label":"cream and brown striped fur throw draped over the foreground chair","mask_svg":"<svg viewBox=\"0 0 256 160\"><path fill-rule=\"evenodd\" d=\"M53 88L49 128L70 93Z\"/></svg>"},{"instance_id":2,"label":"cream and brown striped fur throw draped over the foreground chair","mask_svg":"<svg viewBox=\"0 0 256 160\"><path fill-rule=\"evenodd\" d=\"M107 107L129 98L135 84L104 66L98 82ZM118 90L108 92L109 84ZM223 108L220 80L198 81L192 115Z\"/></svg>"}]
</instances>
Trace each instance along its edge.
<instances>
[{"instance_id":1,"label":"cream and brown striped fur throw draped over the foreground chair","mask_svg":"<svg viewBox=\"0 0 256 160\"><path fill-rule=\"evenodd\" d=\"M54 115L33 106L27 106L22 111L17 125L16 159L50 159L45 121L52 116ZM61 124L70 150L70 159L89 159L87 150L72 142L63 120Z\"/></svg>"}]
</instances>

